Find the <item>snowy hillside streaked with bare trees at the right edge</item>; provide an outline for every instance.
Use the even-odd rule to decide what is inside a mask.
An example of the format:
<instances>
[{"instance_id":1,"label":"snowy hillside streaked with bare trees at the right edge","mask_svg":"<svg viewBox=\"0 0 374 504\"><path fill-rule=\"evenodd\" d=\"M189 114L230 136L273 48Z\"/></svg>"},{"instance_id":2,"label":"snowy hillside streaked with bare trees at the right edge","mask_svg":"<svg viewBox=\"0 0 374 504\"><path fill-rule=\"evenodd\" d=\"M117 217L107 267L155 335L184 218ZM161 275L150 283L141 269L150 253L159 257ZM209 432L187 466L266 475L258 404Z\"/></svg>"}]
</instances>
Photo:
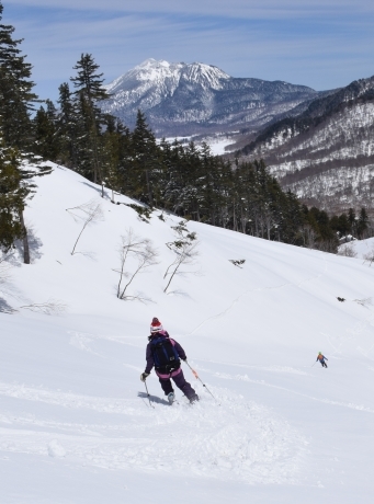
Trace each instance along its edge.
<instances>
[{"instance_id":1,"label":"snowy hillside streaked with bare trees at the right edge","mask_svg":"<svg viewBox=\"0 0 374 504\"><path fill-rule=\"evenodd\" d=\"M283 186L309 205L373 210L374 77L297 112L267 127L242 152L263 158Z\"/></svg>"}]
</instances>

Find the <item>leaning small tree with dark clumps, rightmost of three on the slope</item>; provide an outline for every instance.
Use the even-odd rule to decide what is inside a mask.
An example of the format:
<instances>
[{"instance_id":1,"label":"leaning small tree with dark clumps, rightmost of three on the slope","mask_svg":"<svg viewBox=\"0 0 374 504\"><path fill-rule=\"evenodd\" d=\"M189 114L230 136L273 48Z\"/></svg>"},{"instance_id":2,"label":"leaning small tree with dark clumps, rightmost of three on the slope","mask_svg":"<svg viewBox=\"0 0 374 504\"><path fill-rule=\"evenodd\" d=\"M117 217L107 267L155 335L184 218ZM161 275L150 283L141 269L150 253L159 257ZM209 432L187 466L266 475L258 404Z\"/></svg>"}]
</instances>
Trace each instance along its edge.
<instances>
[{"instance_id":1,"label":"leaning small tree with dark clumps, rightmost of three on the slope","mask_svg":"<svg viewBox=\"0 0 374 504\"><path fill-rule=\"evenodd\" d=\"M173 279L173 277L178 274L186 273L180 271L182 265L186 264L195 264L195 257L199 255L196 240L196 233L190 232L185 227L185 222L181 220L178 226L172 227L171 229L174 230L175 240L172 242L167 243L166 245L175 254L174 261L168 266L163 279L170 276L167 286L165 287L163 291L166 293ZM189 272L192 273L192 272Z\"/></svg>"}]
</instances>

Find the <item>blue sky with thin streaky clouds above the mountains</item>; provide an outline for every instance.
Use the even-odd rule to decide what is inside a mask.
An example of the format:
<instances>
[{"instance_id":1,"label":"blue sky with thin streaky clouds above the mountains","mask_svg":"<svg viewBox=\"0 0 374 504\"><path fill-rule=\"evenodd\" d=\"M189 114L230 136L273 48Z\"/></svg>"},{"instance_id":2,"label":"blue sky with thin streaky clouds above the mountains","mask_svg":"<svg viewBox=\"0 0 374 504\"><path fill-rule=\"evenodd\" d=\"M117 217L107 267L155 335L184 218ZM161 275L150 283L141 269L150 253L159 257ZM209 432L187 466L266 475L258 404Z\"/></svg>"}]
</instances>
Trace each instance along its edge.
<instances>
[{"instance_id":1,"label":"blue sky with thin streaky clouds above the mountains","mask_svg":"<svg viewBox=\"0 0 374 504\"><path fill-rule=\"evenodd\" d=\"M147 58L317 90L374 75L371 0L3 0L41 98L90 53L112 81Z\"/></svg>"}]
</instances>

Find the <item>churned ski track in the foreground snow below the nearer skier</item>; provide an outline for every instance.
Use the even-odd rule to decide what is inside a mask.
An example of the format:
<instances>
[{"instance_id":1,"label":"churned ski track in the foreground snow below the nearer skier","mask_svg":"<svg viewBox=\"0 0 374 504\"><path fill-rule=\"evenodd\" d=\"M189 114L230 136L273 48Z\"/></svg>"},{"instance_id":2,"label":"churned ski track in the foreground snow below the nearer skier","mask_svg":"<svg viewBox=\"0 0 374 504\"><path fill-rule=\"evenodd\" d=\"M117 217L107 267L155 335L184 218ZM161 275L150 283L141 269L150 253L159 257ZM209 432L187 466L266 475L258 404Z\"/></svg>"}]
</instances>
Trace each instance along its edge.
<instances>
[{"instance_id":1,"label":"churned ski track in the foreground snow below the nearer skier","mask_svg":"<svg viewBox=\"0 0 374 504\"><path fill-rule=\"evenodd\" d=\"M297 484L308 444L298 432L267 408L226 389L213 389L220 405L197 391L203 399L194 406L182 399L173 406L155 402L150 409L139 408L138 399L107 400L0 383L0 394L10 398L136 416L133 423L89 425L2 414L0 450L64 457L106 469Z\"/></svg>"}]
</instances>

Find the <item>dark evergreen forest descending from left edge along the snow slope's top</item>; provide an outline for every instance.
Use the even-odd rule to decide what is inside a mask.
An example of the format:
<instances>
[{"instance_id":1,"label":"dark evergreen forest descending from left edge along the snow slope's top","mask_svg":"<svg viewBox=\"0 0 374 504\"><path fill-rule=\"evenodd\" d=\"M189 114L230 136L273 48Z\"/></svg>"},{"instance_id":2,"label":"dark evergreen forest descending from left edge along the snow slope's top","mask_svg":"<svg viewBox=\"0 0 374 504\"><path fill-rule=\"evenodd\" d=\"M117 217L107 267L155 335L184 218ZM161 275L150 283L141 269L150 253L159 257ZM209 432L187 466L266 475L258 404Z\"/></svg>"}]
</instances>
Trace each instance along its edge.
<instances>
[{"instance_id":1,"label":"dark evergreen forest descending from left edge along the snow slope's top","mask_svg":"<svg viewBox=\"0 0 374 504\"><path fill-rule=\"evenodd\" d=\"M3 7L0 2L0 16ZM0 244L10 250L27 230L23 210L31 180L48 173L42 160L70 168L102 186L102 196L123 193L149 208L268 240L335 252L338 232L364 236L367 216L331 218L284 192L262 160L235 163L213 156L207 145L157 141L138 111L136 126L101 111L109 98L103 73L82 54L59 100L39 101L32 66L13 26L0 25ZM39 102L39 103L38 103ZM352 216L354 217L352 218ZM162 214L161 214L162 218ZM25 262L26 251L25 251ZM29 260L30 262L30 260Z\"/></svg>"}]
</instances>

